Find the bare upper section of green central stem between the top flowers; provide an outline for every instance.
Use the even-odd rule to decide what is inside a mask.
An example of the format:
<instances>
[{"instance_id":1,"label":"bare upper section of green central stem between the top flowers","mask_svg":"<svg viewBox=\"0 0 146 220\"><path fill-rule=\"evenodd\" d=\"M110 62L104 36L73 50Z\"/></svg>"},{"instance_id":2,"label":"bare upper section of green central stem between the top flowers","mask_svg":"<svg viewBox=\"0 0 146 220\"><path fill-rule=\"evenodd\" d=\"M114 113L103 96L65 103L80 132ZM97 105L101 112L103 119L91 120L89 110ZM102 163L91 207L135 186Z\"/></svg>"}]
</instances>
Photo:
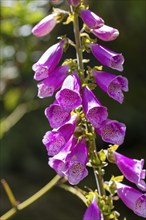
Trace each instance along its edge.
<instances>
[{"instance_id":1,"label":"bare upper section of green central stem between the top flowers","mask_svg":"<svg viewBox=\"0 0 146 220\"><path fill-rule=\"evenodd\" d=\"M83 66L83 53L82 53L82 45L80 40L80 31L79 31L79 21L78 21L78 14L74 10L74 8L71 6L71 12L74 15L74 35L75 35L75 42L76 42L76 56L77 56L77 63L80 70L84 69Z\"/></svg>"}]
</instances>

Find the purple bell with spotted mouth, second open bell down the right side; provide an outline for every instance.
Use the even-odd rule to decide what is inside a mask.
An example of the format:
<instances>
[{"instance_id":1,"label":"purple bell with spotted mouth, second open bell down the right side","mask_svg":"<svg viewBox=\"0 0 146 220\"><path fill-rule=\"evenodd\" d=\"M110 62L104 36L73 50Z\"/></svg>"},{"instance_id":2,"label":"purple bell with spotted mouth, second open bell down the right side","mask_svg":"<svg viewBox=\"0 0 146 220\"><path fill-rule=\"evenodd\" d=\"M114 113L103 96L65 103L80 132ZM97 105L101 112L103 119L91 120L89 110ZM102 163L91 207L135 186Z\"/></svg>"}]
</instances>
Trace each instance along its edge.
<instances>
[{"instance_id":1,"label":"purple bell with spotted mouth, second open bell down the right side","mask_svg":"<svg viewBox=\"0 0 146 220\"><path fill-rule=\"evenodd\" d=\"M119 103L123 102L124 94L122 90L128 92L128 80L126 77L96 70L93 70L92 74L95 77L96 83L103 91Z\"/></svg>"}]
</instances>

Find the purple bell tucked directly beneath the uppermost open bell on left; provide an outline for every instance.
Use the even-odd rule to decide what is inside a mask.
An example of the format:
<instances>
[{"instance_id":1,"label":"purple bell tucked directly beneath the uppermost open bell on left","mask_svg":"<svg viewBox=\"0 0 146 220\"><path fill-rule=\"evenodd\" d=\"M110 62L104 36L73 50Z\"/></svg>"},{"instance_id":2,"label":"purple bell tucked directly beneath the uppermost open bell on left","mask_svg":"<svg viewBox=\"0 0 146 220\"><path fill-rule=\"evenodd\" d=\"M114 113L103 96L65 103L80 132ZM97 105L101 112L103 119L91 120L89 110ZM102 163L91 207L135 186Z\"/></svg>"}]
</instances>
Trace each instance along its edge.
<instances>
[{"instance_id":1,"label":"purple bell tucked directly beneath the uppermost open bell on left","mask_svg":"<svg viewBox=\"0 0 146 220\"><path fill-rule=\"evenodd\" d=\"M68 65L60 66L53 70L49 76L37 84L38 97L46 98L52 96L59 89L67 76L69 70Z\"/></svg>"}]
</instances>

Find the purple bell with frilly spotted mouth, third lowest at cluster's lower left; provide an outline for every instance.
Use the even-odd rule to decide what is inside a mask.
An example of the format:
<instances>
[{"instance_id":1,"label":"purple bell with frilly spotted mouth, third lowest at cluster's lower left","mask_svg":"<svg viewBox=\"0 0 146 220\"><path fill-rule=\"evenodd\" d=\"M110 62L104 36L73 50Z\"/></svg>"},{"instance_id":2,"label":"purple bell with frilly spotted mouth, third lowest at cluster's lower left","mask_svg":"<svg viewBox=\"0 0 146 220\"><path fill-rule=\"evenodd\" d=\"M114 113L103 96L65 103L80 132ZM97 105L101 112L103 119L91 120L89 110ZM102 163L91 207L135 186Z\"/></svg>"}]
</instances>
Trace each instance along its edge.
<instances>
[{"instance_id":1,"label":"purple bell with frilly spotted mouth, third lowest at cluster's lower left","mask_svg":"<svg viewBox=\"0 0 146 220\"><path fill-rule=\"evenodd\" d=\"M43 137L43 144L49 156L54 156L64 147L73 135L76 127L77 115L73 115L71 119L58 129L46 132Z\"/></svg>"}]
</instances>

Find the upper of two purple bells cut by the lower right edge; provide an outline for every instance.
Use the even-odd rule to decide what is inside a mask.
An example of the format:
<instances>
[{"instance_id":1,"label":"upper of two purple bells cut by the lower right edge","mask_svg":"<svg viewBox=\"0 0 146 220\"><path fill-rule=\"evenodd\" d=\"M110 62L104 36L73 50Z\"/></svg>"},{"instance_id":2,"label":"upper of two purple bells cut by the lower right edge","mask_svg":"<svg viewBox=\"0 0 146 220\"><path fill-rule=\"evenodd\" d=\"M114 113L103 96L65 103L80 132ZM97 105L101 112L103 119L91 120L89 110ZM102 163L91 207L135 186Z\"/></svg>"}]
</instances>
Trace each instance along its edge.
<instances>
[{"instance_id":1,"label":"upper of two purple bells cut by the lower right edge","mask_svg":"<svg viewBox=\"0 0 146 220\"><path fill-rule=\"evenodd\" d=\"M122 154L114 152L115 162L123 175L131 182L135 183L137 187L146 191L146 170L143 170L144 159L135 160L125 157Z\"/></svg>"}]
</instances>

